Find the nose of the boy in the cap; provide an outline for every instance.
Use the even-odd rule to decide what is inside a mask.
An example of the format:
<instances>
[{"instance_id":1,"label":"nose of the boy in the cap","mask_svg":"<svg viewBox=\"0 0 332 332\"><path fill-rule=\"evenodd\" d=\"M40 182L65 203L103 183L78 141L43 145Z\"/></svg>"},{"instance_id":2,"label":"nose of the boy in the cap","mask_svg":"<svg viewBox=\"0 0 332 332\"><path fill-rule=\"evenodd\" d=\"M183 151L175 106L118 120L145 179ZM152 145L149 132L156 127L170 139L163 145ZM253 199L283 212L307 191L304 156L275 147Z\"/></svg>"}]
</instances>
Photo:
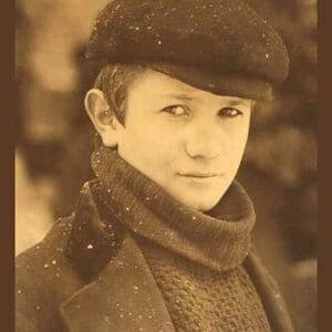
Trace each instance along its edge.
<instances>
[{"instance_id":1,"label":"nose of the boy in the cap","mask_svg":"<svg viewBox=\"0 0 332 332\"><path fill-rule=\"evenodd\" d=\"M215 159L222 151L222 144L211 128L191 132L186 139L186 153L191 158Z\"/></svg>"}]
</instances>

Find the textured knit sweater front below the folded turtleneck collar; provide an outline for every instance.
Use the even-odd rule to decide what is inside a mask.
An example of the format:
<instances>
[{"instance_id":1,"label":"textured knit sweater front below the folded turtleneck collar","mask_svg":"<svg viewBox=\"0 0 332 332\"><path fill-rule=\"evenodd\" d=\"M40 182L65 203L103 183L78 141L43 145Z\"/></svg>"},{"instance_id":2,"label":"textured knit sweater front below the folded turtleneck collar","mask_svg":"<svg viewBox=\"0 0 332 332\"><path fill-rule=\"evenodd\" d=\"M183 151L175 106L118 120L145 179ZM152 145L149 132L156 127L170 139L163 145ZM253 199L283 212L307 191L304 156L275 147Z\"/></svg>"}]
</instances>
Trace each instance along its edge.
<instances>
[{"instance_id":1,"label":"textured knit sweater front below the folded turtleneck collar","mask_svg":"<svg viewBox=\"0 0 332 332\"><path fill-rule=\"evenodd\" d=\"M177 331L270 331L242 266L218 272L139 241Z\"/></svg>"}]
</instances>

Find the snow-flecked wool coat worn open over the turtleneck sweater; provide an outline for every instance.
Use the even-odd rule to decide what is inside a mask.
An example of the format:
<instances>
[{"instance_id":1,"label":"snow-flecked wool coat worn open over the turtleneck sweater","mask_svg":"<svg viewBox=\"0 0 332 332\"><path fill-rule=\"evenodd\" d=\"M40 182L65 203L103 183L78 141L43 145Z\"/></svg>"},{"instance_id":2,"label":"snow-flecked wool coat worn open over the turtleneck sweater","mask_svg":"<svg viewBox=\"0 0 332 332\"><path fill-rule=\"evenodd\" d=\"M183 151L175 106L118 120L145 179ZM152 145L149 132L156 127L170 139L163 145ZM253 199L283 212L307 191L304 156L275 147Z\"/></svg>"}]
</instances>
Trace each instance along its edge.
<instances>
[{"instance_id":1,"label":"snow-flecked wool coat worn open over the turtleneck sweater","mask_svg":"<svg viewBox=\"0 0 332 332\"><path fill-rule=\"evenodd\" d=\"M76 211L17 258L17 332L175 331L134 238L118 228L110 246L100 224L85 187ZM277 286L253 253L245 267L272 330L293 331ZM147 311L153 315L142 319Z\"/></svg>"}]
</instances>

